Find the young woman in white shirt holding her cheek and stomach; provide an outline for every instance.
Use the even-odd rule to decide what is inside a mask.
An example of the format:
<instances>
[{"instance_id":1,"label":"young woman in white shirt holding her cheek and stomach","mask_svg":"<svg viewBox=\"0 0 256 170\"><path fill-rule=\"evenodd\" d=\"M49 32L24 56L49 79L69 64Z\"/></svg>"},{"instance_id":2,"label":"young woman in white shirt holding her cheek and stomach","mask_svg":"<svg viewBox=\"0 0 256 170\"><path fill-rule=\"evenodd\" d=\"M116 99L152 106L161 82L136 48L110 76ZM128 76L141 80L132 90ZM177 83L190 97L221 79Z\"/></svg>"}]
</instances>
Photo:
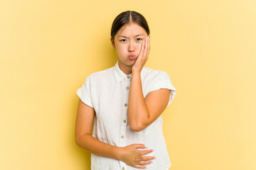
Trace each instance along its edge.
<instances>
[{"instance_id":1,"label":"young woman in white shirt holding her cheek and stomach","mask_svg":"<svg viewBox=\"0 0 256 170\"><path fill-rule=\"evenodd\" d=\"M92 153L92 170L167 170L161 113L176 89L166 72L144 67L150 48L144 16L120 13L110 40L117 64L90 74L78 89L75 140Z\"/></svg>"}]
</instances>

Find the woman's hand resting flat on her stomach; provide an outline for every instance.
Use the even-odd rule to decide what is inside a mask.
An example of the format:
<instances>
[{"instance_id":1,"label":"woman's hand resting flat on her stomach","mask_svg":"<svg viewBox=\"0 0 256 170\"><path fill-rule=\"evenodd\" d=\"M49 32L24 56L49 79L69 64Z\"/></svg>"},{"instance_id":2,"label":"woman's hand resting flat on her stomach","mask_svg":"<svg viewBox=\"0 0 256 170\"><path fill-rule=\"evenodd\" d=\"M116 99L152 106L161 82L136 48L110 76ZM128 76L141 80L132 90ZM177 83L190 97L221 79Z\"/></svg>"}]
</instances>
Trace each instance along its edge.
<instances>
[{"instance_id":1,"label":"woman's hand resting flat on her stomach","mask_svg":"<svg viewBox=\"0 0 256 170\"><path fill-rule=\"evenodd\" d=\"M153 152L152 149L145 149L143 144L133 144L127 147L120 147L120 160L129 166L139 169L146 169L147 164L151 164L154 156L144 156ZM144 150L139 150L144 149Z\"/></svg>"}]
</instances>

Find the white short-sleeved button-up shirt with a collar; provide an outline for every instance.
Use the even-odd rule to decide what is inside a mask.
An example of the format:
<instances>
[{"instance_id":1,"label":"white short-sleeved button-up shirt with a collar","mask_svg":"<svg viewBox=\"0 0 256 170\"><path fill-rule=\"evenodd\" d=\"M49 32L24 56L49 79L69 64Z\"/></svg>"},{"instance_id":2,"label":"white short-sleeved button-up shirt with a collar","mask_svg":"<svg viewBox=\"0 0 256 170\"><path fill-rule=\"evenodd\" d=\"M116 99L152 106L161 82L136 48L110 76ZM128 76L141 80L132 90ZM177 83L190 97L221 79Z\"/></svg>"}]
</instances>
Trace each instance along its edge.
<instances>
[{"instance_id":1,"label":"white short-sleeved button-up shirt with a collar","mask_svg":"<svg viewBox=\"0 0 256 170\"><path fill-rule=\"evenodd\" d=\"M87 106L95 109L96 117L92 136L98 140L117 147L132 144L144 144L154 149L148 155L156 159L146 165L149 170L168 170L171 161L166 149L162 132L161 115L154 123L142 131L134 132L127 121L127 104L132 74L126 75L119 69L118 62L114 67L90 74L77 94ZM143 67L141 72L144 97L151 91L170 89L169 104L173 101L176 89L166 72ZM117 159L91 155L92 170L134 170L132 166Z\"/></svg>"}]
</instances>

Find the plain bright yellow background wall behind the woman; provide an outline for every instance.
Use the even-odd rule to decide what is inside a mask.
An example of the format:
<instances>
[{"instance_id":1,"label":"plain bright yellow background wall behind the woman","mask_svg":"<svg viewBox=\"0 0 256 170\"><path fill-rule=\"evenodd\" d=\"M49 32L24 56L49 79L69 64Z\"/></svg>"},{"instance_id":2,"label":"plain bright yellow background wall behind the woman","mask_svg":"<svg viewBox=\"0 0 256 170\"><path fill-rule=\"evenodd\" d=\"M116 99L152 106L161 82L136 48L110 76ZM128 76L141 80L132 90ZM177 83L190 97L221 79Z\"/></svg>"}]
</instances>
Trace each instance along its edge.
<instances>
[{"instance_id":1,"label":"plain bright yellow background wall behind the woman","mask_svg":"<svg viewBox=\"0 0 256 170\"><path fill-rule=\"evenodd\" d=\"M163 113L171 170L255 170L256 1L0 1L0 169L90 169L75 91L117 61L112 21L142 13L146 67L177 89Z\"/></svg>"}]
</instances>

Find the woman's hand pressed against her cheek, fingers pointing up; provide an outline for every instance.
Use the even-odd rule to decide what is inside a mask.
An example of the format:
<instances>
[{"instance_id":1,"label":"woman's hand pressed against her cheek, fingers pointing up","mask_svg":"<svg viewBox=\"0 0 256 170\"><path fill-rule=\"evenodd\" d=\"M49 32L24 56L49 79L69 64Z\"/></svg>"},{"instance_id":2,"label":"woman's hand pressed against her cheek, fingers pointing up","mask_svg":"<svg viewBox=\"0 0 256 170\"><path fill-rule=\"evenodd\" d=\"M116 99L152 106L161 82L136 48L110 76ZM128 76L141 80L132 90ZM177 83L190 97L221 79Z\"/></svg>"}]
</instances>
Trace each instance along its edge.
<instances>
[{"instance_id":1,"label":"woman's hand pressed against her cheek, fingers pointing up","mask_svg":"<svg viewBox=\"0 0 256 170\"><path fill-rule=\"evenodd\" d=\"M150 40L149 36L147 36L142 43L141 51L139 52L139 56L137 57L136 62L132 66L132 72L141 72L142 68L144 67L144 64L146 63L146 60L148 60L149 57L149 50L150 50Z\"/></svg>"}]
</instances>

